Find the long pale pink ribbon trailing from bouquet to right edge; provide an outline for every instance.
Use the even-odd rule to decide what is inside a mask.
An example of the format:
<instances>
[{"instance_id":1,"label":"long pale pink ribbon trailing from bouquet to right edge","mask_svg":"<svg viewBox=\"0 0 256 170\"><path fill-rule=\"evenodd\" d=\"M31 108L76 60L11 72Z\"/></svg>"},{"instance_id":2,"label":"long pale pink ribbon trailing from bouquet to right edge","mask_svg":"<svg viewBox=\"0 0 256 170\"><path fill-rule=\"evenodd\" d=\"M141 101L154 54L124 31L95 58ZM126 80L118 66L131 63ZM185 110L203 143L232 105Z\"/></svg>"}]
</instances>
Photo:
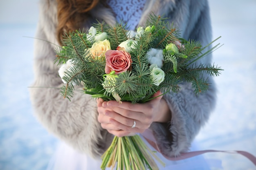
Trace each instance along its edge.
<instances>
[{"instance_id":1,"label":"long pale pink ribbon trailing from bouquet to right edge","mask_svg":"<svg viewBox=\"0 0 256 170\"><path fill-rule=\"evenodd\" d=\"M153 148L155 148L158 152L160 152L160 149L157 146L156 143L156 139L152 133L151 130L146 130L144 133L141 134L146 141L148 141L148 143L153 146ZM199 151L193 151L193 152L186 152L186 153L181 153L180 156L178 157L167 157L165 155L163 155L166 159L171 160L171 161L179 161L182 159L187 159L187 158L191 158L191 157L195 157L198 155L202 155L204 153L207 152L225 152L225 153L232 153L232 154L240 154L243 155L245 157L247 157L247 159L249 159L250 161L252 161L252 163L254 163L254 165L256 166L256 157L254 155L252 155L249 152L245 152L245 151L240 151L240 150L235 150L235 151L225 151L225 150L199 150ZM161 152L160 152L161 153Z\"/></svg>"}]
</instances>

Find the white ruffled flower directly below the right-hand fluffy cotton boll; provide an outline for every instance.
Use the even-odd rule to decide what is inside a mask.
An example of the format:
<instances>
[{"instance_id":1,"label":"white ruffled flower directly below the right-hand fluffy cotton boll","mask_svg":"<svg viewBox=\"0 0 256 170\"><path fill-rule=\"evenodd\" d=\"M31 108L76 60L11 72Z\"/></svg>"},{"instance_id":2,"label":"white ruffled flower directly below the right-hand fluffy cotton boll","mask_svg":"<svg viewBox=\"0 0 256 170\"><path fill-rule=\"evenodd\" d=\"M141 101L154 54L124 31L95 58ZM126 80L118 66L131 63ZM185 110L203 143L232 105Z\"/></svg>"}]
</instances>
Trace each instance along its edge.
<instances>
[{"instance_id":1,"label":"white ruffled flower directly below the right-hand fluffy cotton boll","mask_svg":"<svg viewBox=\"0 0 256 170\"><path fill-rule=\"evenodd\" d=\"M153 84L159 86L160 83L164 81L164 71L161 68L158 68L156 64L152 64L149 66L151 70L151 77L153 79Z\"/></svg>"}]
</instances>

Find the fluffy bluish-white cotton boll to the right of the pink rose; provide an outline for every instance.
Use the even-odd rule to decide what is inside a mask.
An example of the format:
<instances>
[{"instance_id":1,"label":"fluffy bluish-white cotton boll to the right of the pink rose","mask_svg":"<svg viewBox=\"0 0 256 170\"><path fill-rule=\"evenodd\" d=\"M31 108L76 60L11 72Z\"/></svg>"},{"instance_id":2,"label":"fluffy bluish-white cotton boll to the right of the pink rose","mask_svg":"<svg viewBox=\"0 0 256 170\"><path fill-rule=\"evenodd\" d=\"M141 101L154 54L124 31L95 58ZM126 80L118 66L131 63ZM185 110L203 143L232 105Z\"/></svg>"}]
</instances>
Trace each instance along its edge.
<instances>
[{"instance_id":1,"label":"fluffy bluish-white cotton boll to the right of the pink rose","mask_svg":"<svg viewBox=\"0 0 256 170\"><path fill-rule=\"evenodd\" d=\"M150 65L157 64L159 68L162 68L164 63L164 55L162 49L149 49L146 55L148 56L148 62Z\"/></svg>"}]
</instances>

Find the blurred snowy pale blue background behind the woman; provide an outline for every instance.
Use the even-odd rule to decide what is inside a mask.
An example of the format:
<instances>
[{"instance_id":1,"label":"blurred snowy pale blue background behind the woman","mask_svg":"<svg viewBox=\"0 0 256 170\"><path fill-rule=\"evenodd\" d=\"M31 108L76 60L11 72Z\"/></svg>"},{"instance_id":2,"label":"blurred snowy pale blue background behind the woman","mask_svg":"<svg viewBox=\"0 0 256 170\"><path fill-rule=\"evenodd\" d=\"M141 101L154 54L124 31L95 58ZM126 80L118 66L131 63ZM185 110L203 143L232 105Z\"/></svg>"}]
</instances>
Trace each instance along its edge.
<instances>
[{"instance_id":1,"label":"blurred snowy pale blue background behind the woman","mask_svg":"<svg viewBox=\"0 0 256 170\"><path fill-rule=\"evenodd\" d=\"M211 0L213 38L224 44L213 61L218 102L196 138L198 147L244 150L256 155L256 0ZM0 170L45 170L58 139L34 118L28 87L33 82L33 38L38 0L0 0ZM225 170L256 170L237 154L207 153Z\"/></svg>"}]
</instances>

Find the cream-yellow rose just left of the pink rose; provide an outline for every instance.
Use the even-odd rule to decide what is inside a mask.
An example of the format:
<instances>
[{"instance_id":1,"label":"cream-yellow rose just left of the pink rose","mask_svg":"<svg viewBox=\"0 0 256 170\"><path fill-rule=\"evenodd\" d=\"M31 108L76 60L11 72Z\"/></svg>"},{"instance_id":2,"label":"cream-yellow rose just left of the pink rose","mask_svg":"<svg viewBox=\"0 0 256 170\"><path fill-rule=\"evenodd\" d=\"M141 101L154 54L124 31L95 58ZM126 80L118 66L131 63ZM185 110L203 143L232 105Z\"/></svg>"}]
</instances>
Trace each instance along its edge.
<instances>
[{"instance_id":1,"label":"cream-yellow rose just left of the pink rose","mask_svg":"<svg viewBox=\"0 0 256 170\"><path fill-rule=\"evenodd\" d=\"M95 59L101 59L101 57L105 56L106 51L110 50L110 42L108 40L97 41L92 44L90 48L90 53L92 57Z\"/></svg>"}]
</instances>

